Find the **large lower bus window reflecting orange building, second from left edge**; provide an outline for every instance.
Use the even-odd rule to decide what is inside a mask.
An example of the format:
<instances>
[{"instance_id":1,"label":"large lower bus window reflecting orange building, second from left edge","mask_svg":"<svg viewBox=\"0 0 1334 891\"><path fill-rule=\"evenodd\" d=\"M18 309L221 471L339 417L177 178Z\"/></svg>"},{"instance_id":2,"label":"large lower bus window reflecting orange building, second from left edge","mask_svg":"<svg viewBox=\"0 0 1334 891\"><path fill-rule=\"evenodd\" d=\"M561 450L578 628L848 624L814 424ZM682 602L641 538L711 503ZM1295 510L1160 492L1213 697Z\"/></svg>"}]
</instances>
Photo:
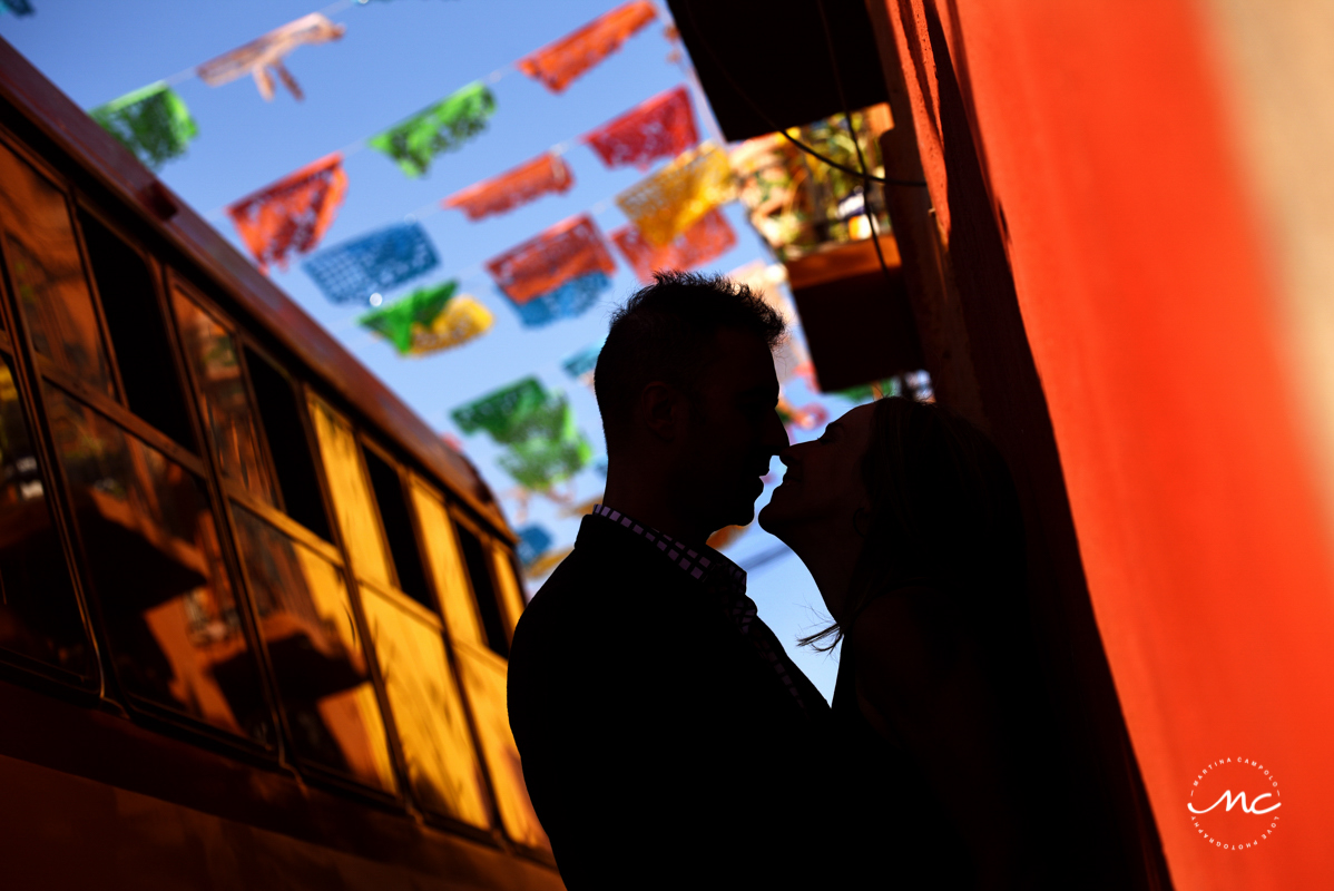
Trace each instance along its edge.
<instances>
[{"instance_id":1,"label":"large lower bus window reflecting orange building, second from left edge","mask_svg":"<svg viewBox=\"0 0 1334 891\"><path fill-rule=\"evenodd\" d=\"M203 483L55 387L47 411L127 692L271 739Z\"/></svg>"}]
</instances>

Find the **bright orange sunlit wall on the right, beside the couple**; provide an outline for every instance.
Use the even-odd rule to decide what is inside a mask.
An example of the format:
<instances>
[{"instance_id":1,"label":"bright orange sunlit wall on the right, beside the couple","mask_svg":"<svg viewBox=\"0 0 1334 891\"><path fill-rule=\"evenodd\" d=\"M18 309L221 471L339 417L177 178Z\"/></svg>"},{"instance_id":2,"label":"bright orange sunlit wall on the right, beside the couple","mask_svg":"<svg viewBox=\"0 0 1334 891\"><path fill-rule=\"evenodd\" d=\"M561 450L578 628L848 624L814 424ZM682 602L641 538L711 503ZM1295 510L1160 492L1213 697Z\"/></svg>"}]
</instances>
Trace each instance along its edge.
<instances>
[{"instance_id":1,"label":"bright orange sunlit wall on the right, beside the couple","mask_svg":"<svg viewBox=\"0 0 1334 891\"><path fill-rule=\"evenodd\" d=\"M1205 20L1185 0L887 5L927 45L935 11L970 104L1175 886L1334 887L1334 567ZM908 79L930 161L930 83ZM948 172L926 167L939 208ZM1223 756L1281 782L1255 850L1190 823Z\"/></svg>"}]
</instances>

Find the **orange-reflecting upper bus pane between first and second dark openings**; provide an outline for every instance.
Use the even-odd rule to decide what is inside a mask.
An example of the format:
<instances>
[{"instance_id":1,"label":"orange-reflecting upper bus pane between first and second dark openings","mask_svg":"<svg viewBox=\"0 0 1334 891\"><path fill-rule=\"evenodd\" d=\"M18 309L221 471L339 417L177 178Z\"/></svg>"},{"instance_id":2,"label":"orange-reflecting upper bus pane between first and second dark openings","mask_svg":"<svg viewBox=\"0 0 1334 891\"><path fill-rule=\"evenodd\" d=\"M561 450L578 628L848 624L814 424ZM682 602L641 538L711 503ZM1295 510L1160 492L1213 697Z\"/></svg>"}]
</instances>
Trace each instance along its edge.
<instances>
[{"instance_id":1,"label":"orange-reflecting upper bus pane between first and second dark openings","mask_svg":"<svg viewBox=\"0 0 1334 891\"><path fill-rule=\"evenodd\" d=\"M253 412L232 336L180 291L173 292L185 355L195 372L208 433L223 476L240 483L265 504L273 503L268 472L260 460Z\"/></svg>"}]
</instances>

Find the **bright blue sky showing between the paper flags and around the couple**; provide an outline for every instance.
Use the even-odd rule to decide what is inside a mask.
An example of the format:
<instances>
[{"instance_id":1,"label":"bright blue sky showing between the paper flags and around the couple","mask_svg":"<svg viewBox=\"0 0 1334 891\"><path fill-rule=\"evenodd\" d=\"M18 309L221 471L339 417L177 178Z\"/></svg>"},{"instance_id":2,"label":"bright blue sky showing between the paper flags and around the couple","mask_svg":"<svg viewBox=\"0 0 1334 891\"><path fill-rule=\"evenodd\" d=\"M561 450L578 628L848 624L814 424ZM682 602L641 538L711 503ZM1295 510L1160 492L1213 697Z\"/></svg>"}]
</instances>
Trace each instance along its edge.
<instances>
[{"instance_id":1,"label":"bright blue sky showing between the paper flags and around the couple","mask_svg":"<svg viewBox=\"0 0 1334 891\"><path fill-rule=\"evenodd\" d=\"M0 16L0 36L31 60L76 104L93 108L135 88L169 77L232 49L305 13L317 0L33 0L36 15ZM249 79L209 88L197 79L176 89L199 124L189 153L159 173L177 195L217 227L244 253L220 209L263 185L332 151L354 145L459 87L492 72L504 75L492 85L498 111L487 131L460 151L436 159L422 179L406 177L387 157L360 151L346 161L347 200L324 245L396 223L439 199L526 161L558 143L571 143L566 160L575 187L547 196L508 215L470 223L455 211L423 219L442 267L387 295L394 299L419 284L459 277L462 291L476 296L495 315L486 336L454 351L420 359L400 359L394 349L360 329L355 319L364 308L334 305L293 263L273 280L319 320L374 373L379 375L434 428L463 441L492 488L503 496L511 522L520 506L507 498L514 482L495 466L498 450L484 436L463 436L450 409L524 375L536 375L548 388L568 393L579 427L596 454L603 452L602 427L591 391L571 380L560 360L599 341L607 315L638 281L623 263L603 304L579 319L546 328L523 328L496 292L482 263L527 240L548 225L592 207L602 231L624 223L610 200L643 173L634 168L607 171L575 139L650 96L686 81L663 20L631 37L620 52L574 81L563 93L550 93L510 65L618 5L615 0L371 0L331 15L347 25L346 36L316 47L301 47L287 67L305 100L297 103L279 85L265 103ZM716 132L710 112L696 104L702 135ZM610 207L608 207L610 205ZM738 247L706 271L726 272L747 261L771 260L767 247L736 204L724 208L738 235ZM619 256L618 256L619 260ZM788 399L803 405L816 396L802 384L788 387ZM836 417L851 403L823 397ZM803 439L819 431L803 432ZM778 462L774 468L780 471ZM776 474L775 474L776 476ZM602 491L596 470L574 482L576 502ZM760 504L768 498L768 490ZM542 523L556 547L572 543L578 519L564 516L544 498L528 500L527 520ZM811 680L832 698L836 659L795 646L800 634L822 627L823 607L815 584L790 552L772 559L779 543L751 527L727 551L746 566L770 556L750 574L750 594L768 623Z\"/></svg>"}]
</instances>

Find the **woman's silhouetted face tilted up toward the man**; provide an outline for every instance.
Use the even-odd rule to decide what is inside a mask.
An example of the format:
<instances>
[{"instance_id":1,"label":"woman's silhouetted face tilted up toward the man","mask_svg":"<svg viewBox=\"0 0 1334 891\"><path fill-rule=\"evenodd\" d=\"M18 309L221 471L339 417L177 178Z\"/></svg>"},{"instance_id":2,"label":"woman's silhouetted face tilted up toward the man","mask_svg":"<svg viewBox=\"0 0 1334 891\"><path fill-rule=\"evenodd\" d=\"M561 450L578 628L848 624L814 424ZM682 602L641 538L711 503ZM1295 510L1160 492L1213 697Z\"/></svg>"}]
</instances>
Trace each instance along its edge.
<instances>
[{"instance_id":1,"label":"woman's silhouetted face tilted up toward the man","mask_svg":"<svg viewBox=\"0 0 1334 891\"><path fill-rule=\"evenodd\" d=\"M819 439L779 452L787 472L759 514L760 527L798 552L800 544L818 544L830 534L855 535L858 511L871 508L862 459L871 447L874 415L874 403L859 405L826 427Z\"/></svg>"}]
</instances>

